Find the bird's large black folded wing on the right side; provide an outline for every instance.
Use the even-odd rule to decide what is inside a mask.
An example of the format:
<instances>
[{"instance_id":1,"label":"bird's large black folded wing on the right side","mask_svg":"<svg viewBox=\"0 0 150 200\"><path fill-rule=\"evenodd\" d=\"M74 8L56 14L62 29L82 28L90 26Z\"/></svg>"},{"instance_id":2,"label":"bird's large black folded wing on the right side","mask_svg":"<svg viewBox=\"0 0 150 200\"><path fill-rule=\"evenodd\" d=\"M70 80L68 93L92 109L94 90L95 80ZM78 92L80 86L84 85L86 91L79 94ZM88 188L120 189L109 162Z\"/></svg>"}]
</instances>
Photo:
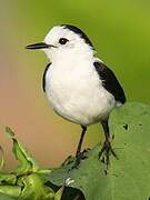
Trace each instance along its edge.
<instances>
[{"instance_id":1,"label":"bird's large black folded wing on the right side","mask_svg":"<svg viewBox=\"0 0 150 200\"><path fill-rule=\"evenodd\" d=\"M96 61L93 66L102 79L102 86L114 96L116 101L121 103L126 102L126 96L122 87L120 86L119 81L117 80L114 73L102 62Z\"/></svg>"}]
</instances>

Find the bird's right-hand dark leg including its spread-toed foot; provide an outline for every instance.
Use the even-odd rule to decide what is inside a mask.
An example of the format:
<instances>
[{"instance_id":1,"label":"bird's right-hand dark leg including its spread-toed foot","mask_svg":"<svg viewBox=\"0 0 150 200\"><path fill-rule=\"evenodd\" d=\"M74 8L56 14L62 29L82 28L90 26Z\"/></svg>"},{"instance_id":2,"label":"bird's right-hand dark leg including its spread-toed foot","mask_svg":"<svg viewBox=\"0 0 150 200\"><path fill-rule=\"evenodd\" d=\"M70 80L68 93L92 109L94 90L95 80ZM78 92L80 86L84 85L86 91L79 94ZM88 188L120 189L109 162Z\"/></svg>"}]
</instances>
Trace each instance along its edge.
<instances>
[{"instance_id":1,"label":"bird's right-hand dark leg including its spread-toed foot","mask_svg":"<svg viewBox=\"0 0 150 200\"><path fill-rule=\"evenodd\" d=\"M106 156L104 162L106 162L107 168L108 168L110 154L112 153L116 158L117 158L117 154L114 153L114 151L111 147L111 142L110 142L110 132L109 132L108 119L106 121L102 121L101 124L102 124L102 128L104 131L106 141L103 142L102 149L99 153L99 159L104 161L104 157L102 156L104 153L104 156Z\"/></svg>"}]
</instances>

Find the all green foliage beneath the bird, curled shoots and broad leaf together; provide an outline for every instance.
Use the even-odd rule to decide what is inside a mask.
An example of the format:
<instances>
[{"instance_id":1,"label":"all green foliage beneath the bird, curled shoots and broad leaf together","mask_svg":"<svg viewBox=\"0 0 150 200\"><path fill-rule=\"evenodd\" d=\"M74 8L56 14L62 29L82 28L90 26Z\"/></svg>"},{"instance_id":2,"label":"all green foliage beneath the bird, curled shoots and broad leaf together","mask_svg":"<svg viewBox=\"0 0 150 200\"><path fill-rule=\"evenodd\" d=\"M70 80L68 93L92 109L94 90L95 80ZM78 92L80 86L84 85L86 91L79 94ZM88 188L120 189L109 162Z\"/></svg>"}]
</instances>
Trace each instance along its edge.
<instances>
[{"instance_id":1,"label":"all green foliage beneath the bird, curled shoots and broad leaf together","mask_svg":"<svg viewBox=\"0 0 150 200\"><path fill-rule=\"evenodd\" d=\"M110 156L108 169L104 160L98 159L101 144L97 144L78 169L72 169L73 159L69 158L60 168L44 171L14 134L10 134L16 158L24 167L12 173L0 173L0 199L149 200L150 107L127 103L117 108L110 116L109 127L119 159Z\"/></svg>"}]
</instances>

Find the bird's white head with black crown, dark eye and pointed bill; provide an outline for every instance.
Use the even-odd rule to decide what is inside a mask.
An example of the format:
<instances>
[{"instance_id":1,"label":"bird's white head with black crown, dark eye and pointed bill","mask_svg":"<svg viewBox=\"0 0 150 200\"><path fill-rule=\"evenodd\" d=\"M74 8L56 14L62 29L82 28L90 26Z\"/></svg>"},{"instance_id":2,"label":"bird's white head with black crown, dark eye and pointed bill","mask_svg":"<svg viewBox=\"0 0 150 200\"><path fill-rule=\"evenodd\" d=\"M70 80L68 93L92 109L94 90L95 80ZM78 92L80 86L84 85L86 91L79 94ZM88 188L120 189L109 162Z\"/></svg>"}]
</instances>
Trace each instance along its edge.
<instances>
[{"instance_id":1,"label":"bird's white head with black crown, dark eye and pointed bill","mask_svg":"<svg viewBox=\"0 0 150 200\"><path fill-rule=\"evenodd\" d=\"M27 49L41 49L53 61L62 57L77 54L93 54L93 46L89 38L79 28L70 24L53 27L43 42L29 44Z\"/></svg>"}]
</instances>

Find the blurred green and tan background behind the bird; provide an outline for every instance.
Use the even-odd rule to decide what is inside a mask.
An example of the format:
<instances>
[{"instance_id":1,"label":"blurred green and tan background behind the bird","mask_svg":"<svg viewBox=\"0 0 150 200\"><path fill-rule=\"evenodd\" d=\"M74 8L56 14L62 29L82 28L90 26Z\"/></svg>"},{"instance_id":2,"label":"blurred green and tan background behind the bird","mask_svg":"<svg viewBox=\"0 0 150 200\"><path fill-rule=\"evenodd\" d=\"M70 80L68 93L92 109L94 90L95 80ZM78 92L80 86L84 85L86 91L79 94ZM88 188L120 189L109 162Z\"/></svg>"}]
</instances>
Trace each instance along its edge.
<instances>
[{"instance_id":1,"label":"blurred green and tan background behind the bird","mask_svg":"<svg viewBox=\"0 0 150 200\"><path fill-rule=\"evenodd\" d=\"M76 151L80 127L56 116L41 89L48 60L43 52L24 49L61 23L74 24L90 37L128 101L150 102L149 0L0 0L0 143L7 168L16 162L6 126L42 166L57 166ZM86 147L100 141L100 130L99 124L89 129Z\"/></svg>"}]
</instances>

